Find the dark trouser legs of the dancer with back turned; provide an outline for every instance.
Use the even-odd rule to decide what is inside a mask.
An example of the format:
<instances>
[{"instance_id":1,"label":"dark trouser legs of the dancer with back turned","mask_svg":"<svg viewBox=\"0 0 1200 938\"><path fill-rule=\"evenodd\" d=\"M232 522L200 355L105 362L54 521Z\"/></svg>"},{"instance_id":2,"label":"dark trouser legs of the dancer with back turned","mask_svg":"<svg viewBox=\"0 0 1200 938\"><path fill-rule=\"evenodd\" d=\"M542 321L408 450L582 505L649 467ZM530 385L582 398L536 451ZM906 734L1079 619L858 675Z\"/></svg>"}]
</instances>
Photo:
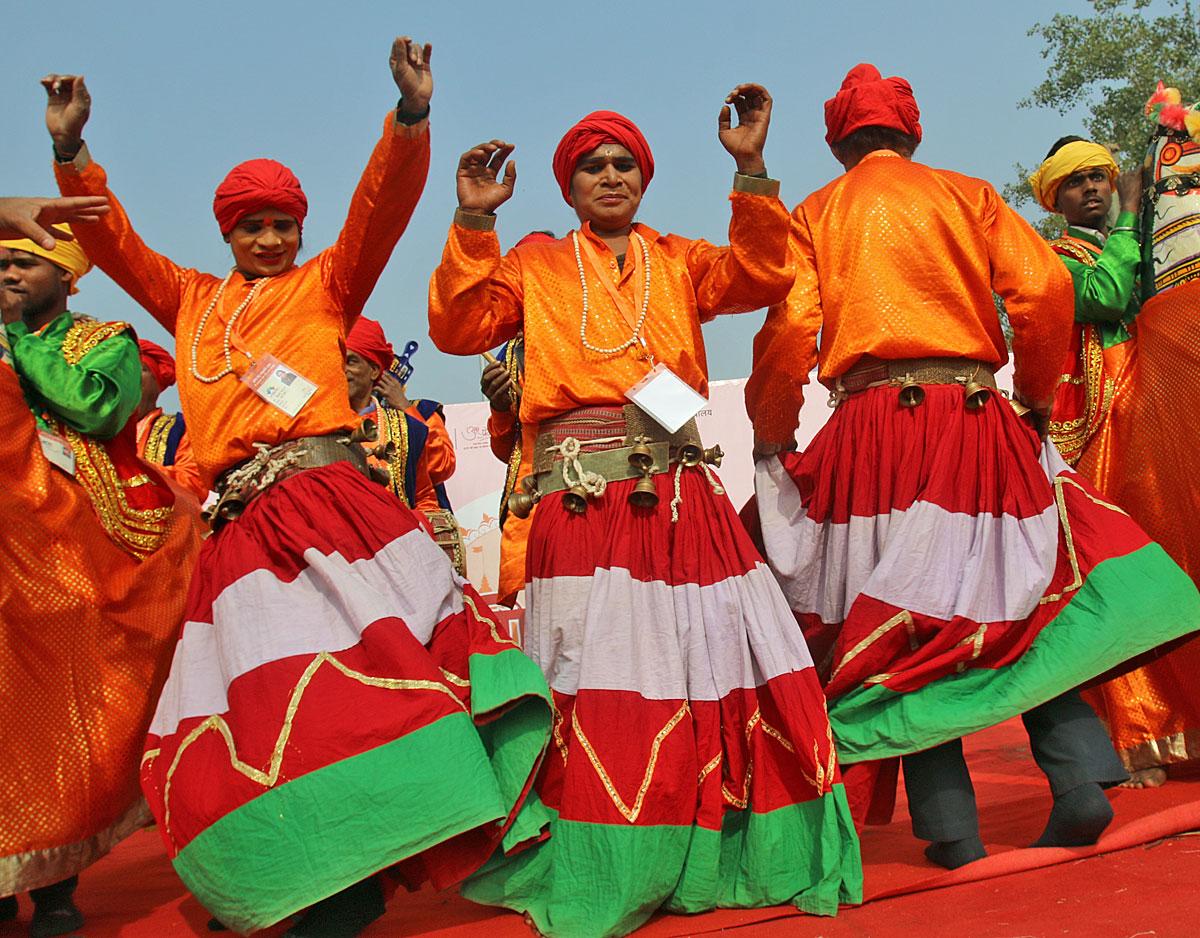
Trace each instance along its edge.
<instances>
[{"instance_id":1,"label":"dark trouser legs of the dancer with back turned","mask_svg":"<svg viewBox=\"0 0 1200 938\"><path fill-rule=\"evenodd\" d=\"M1021 715L1030 750L1057 798L1072 788L1097 782L1103 788L1129 776L1112 748L1096 711L1068 691ZM974 787L962 758L962 740L905 756L912 832L923 841L959 841L979 834Z\"/></svg>"}]
</instances>

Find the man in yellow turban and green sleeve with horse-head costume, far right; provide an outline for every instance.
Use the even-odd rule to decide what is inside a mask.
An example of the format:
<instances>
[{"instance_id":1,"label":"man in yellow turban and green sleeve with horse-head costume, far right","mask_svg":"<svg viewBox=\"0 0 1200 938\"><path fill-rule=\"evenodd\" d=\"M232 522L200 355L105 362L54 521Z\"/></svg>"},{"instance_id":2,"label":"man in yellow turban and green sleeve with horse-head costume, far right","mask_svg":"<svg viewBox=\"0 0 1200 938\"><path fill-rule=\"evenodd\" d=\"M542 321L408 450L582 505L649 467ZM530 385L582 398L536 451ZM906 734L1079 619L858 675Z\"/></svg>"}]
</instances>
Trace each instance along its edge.
<instances>
[{"instance_id":1,"label":"man in yellow turban and green sleeve with horse-head costume, far right","mask_svg":"<svg viewBox=\"0 0 1200 938\"><path fill-rule=\"evenodd\" d=\"M1178 92L1160 86L1148 109L1172 103L1182 110ZM1175 191L1171 184L1194 173L1198 157L1200 145L1184 126L1156 127L1145 220L1139 218L1142 168L1118 173L1108 149L1090 140L1057 140L1030 180L1042 206L1067 221L1050 246L1075 287L1050 437L1067 462L1144 525L1193 579L1200 565L1192 519L1200 493L1189 468L1195 408L1186 395L1195 386L1189 375L1200 372L1200 354L1187 302L1200 285L1194 264L1200 199L1190 187ZM1114 194L1120 214L1110 227ZM1142 317L1141 297L1153 297L1156 285L1164 295L1150 301ZM1198 667L1200 642L1192 641L1085 693L1132 772L1129 786L1162 784L1166 766L1200 757Z\"/></svg>"}]
</instances>

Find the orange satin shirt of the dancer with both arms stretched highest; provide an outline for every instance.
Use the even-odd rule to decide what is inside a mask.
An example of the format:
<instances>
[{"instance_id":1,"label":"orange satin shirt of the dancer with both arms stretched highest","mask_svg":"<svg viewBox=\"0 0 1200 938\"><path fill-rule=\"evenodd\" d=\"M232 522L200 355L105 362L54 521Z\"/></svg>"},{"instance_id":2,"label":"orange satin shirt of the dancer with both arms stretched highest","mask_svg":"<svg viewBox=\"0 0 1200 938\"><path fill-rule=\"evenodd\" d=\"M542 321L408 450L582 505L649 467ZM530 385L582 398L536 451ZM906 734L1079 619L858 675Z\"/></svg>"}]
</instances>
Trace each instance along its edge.
<instances>
[{"instance_id":1,"label":"orange satin shirt of the dancer with both arms stretched highest","mask_svg":"<svg viewBox=\"0 0 1200 938\"><path fill-rule=\"evenodd\" d=\"M362 312L425 187L427 128L427 121L409 127L388 116L337 241L305 264L271 277L238 319L238 348L232 354L235 374L251 367L247 353L254 357L271 354L317 385L295 417L268 404L233 374L211 384L192 374L193 343L200 374L212 375L224 367L226 325L256 282L234 272L197 336L222 277L181 267L146 247L86 148L74 162L55 166L62 194L108 196L112 212L79 232L79 243L96 266L175 336L179 396L205 485L211 487L223 470L253 456L254 443L335 433L358 422L341 351L349 325Z\"/></svg>"}]
</instances>

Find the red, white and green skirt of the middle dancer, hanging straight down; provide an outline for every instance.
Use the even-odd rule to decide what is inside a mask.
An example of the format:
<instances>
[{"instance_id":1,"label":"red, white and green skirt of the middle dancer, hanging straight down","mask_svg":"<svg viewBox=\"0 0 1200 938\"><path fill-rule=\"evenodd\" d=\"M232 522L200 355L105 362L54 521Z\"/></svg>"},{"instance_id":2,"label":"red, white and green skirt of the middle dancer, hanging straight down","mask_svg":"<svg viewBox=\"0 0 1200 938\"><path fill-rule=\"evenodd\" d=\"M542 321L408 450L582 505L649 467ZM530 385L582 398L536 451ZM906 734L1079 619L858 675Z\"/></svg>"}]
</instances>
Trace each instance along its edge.
<instances>
[{"instance_id":1,"label":"red, white and green skirt of the middle dancer, hanging straight down","mask_svg":"<svg viewBox=\"0 0 1200 938\"><path fill-rule=\"evenodd\" d=\"M862 897L858 840L804 638L728 499L697 469L610 482L583 515L542 499L524 648L554 699L523 814L548 840L463 885L544 934L624 934L655 910Z\"/></svg>"}]
</instances>

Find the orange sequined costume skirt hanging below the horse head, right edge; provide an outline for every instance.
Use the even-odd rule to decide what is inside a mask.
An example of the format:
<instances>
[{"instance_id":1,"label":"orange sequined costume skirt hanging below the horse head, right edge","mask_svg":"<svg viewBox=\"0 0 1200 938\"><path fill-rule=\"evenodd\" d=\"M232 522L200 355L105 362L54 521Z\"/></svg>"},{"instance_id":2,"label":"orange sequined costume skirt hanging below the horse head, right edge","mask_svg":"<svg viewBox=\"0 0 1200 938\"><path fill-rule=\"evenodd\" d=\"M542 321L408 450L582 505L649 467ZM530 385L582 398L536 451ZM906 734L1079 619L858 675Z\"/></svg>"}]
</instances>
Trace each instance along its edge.
<instances>
[{"instance_id":1,"label":"orange sequined costume skirt hanging below the horse head, right edge","mask_svg":"<svg viewBox=\"0 0 1200 938\"><path fill-rule=\"evenodd\" d=\"M1147 300L1112 409L1079 461L1092 479L1200 582L1200 282ZM1132 769L1200 758L1200 641L1088 691Z\"/></svg>"}]
</instances>

